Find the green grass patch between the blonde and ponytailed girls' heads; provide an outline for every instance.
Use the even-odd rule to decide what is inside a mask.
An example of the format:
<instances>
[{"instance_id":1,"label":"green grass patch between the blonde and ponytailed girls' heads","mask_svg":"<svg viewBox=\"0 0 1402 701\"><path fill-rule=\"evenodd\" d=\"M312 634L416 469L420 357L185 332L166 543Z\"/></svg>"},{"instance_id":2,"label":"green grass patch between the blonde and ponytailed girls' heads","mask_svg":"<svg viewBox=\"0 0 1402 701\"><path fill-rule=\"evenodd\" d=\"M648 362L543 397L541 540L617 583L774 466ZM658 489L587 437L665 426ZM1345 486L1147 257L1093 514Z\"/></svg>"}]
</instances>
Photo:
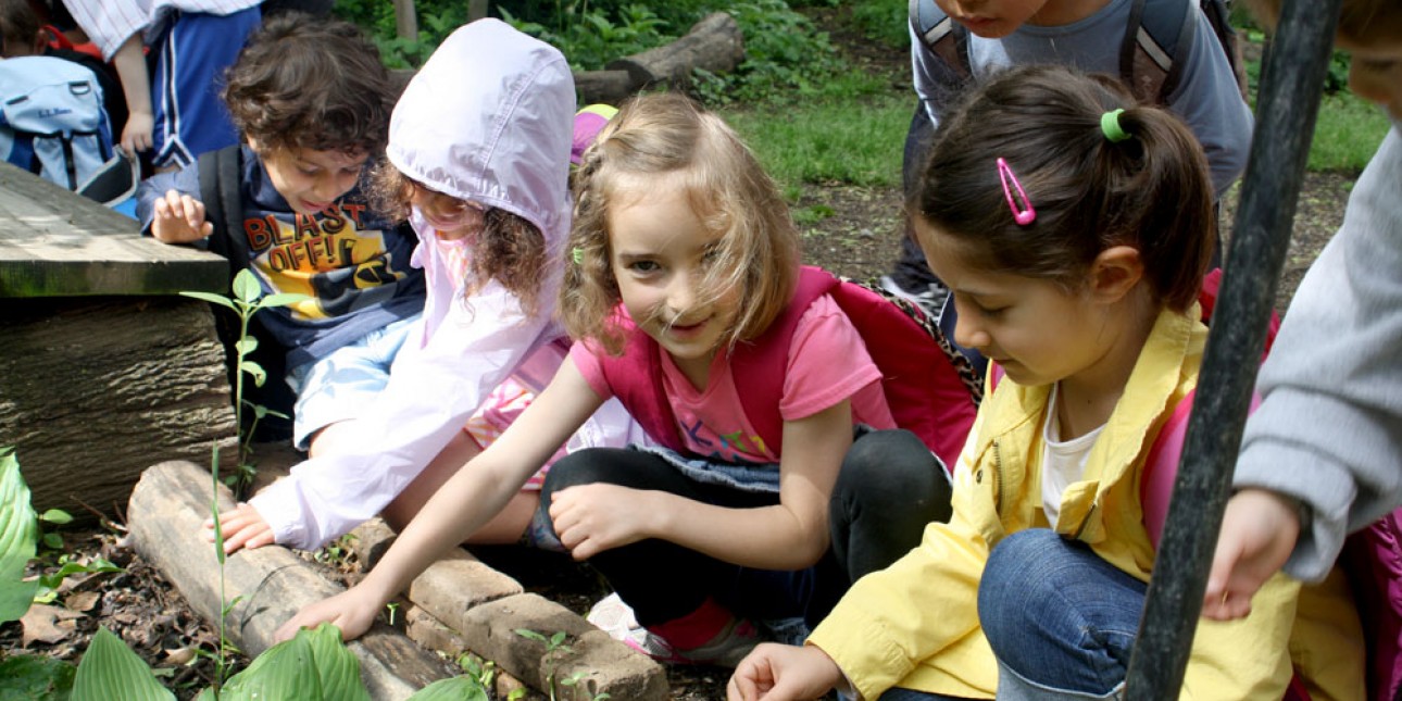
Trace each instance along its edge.
<instances>
[{"instance_id":1,"label":"green grass patch between the blonde and ponytailed girls' heads","mask_svg":"<svg viewBox=\"0 0 1402 701\"><path fill-rule=\"evenodd\" d=\"M911 104L886 95L774 102L719 114L750 144L785 195L792 195L805 182L900 186L900 153Z\"/></svg>"}]
</instances>

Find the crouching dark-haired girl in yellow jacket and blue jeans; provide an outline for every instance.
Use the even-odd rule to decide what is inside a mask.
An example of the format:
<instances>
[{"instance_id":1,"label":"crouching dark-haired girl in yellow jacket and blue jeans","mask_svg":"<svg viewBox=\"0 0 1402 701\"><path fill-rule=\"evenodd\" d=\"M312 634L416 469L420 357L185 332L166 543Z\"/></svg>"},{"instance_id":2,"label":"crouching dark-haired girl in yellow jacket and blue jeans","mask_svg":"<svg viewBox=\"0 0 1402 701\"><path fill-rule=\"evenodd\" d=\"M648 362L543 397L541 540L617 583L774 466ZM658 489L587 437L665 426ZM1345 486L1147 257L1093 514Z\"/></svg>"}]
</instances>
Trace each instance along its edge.
<instances>
[{"instance_id":1,"label":"crouching dark-haired girl in yellow jacket and blue jeans","mask_svg":"<svg viewBox=\"0 0 1402 701\"><path fill-rule=\"evenodd\" d=\"M1207 335L1206 160L1112 80L1021 67L944 126L908 206L955 339L1005 379L951 522L859 580L808 645L757 648L729 695L1115 698L1155 557L1140 472ZM1357 615L1338 587L1316 594L1277 576L1249 617L1202 621L1183 695L1280 700L1294 662L1314 698L1361 698Z\"/></svg>"}]
</instances>

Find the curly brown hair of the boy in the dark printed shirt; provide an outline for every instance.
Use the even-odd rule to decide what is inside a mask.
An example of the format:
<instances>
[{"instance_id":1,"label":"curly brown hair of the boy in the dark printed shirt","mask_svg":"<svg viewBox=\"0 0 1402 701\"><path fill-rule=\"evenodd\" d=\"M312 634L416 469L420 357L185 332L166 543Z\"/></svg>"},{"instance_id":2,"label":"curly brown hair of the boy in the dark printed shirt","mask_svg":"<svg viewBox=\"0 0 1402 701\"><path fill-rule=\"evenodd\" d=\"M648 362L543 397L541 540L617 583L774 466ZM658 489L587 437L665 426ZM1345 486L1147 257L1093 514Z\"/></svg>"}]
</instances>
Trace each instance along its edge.
<instances>
[{"instance_id":1,"label":"curly brown hair of the boy in the dark printed shirt","mask_svg":"<svg viewBox=\"0 0 1402 701\"><path fill-rule=\"evenodd\" d=\"M377 157L394 108L380 50L356 25L303 13L269 17L224 74L234 126L261 149Z\"/></svg>"}]
</instances>

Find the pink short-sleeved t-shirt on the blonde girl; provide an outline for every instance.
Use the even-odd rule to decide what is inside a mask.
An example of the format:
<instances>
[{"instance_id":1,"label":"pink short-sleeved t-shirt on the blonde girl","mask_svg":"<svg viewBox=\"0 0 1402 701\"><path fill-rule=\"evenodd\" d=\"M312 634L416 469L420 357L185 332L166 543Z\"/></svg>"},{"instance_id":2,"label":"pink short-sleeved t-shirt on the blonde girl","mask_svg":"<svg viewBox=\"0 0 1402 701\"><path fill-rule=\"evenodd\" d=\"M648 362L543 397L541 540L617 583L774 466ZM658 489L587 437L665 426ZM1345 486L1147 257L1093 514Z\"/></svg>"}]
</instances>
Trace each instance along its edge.
<instances>
[{"instance_id":1,"label":"pink short-sleeved t-shirt on the blonde girl","mask_svg":"<svg viewBox=\"0 0 1402 701\"><path fill-rule=\"evenodd\" d=\"M576 342L569 358L601 398L613 397L590 343ZM780 416L798 421L851 400L852 423L896 428L879 380L880 370L866 353L862 336L824 294L813 301L794 329ZM672 356L662 353L662 383L687 450L729 463L778 463L778 453L764 444L744 416L726 355L716 353L708 386L698 391Z\"/></svg>"}]
</instances>

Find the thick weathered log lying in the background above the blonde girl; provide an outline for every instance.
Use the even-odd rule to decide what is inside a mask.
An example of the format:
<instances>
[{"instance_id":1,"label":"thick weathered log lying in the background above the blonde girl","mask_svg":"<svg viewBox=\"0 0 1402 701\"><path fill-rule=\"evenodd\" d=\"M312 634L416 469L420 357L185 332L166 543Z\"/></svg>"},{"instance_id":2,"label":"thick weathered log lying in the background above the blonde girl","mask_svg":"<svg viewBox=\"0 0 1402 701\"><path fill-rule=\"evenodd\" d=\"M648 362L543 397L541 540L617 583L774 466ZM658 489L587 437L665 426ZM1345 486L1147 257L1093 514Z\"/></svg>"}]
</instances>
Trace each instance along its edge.
<instances>
[{"instance_id":1,"label":"thick weathered log lying in the background above the blonde girl","mask_svg":"<svg viewBox=\"0 0 1402 701\"><path fill-rule=\"evenodd\" d=\"M686 36L608 62L608 70L627 70L637 88L656 83L686 86L691 80L691 69L705 69L712 73L735 70L744 60L744 36L735 18L725 13L712 13L695 24Z\"/></svg>"}]
</instances>

